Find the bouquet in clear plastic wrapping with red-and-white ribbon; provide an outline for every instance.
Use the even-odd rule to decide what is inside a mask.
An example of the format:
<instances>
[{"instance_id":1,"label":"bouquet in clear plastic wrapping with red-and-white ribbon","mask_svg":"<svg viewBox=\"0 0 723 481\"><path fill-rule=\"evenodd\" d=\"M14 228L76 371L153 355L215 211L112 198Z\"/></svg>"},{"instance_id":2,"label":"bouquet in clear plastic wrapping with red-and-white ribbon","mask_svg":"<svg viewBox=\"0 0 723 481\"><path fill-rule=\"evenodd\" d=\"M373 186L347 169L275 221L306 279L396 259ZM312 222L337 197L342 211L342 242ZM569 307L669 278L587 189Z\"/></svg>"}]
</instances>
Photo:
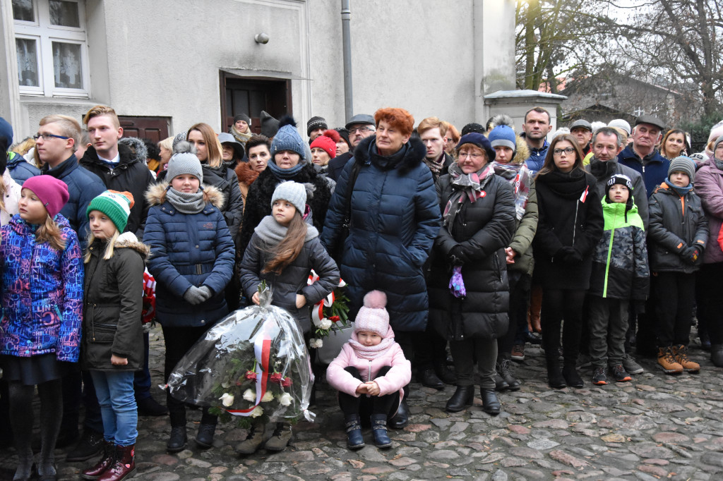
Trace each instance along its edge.
<instances>
[{"instance_id":1,"label":"bouquet in clear plastic wrapping with red-and-white ribbon","mask_svg":"<svg viewBox=\"0 0 723 481\"><path fill-rule=\"evenodd\" d=\"M179 401L210 407L221 420L239 426L269 421L312 422L314 375L304 336L286 311L271 306L271 291L260 286L260 306L226 316L186 353L168 378Z\"/></svg>"}]
</instances>

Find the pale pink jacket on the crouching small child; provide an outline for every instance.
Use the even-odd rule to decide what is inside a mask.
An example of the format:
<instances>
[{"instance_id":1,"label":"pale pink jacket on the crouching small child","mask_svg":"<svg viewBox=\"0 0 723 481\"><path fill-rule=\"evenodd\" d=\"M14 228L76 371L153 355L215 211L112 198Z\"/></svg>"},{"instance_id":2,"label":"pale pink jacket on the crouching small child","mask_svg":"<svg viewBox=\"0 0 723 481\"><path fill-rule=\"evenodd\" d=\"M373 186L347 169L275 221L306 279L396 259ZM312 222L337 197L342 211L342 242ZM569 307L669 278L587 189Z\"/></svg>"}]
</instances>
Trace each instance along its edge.
<instances>
[{"instance_id":1,"label":"pale pink jacket on the crouching small child","mask_svg":"<svg viewBox=\"0 0 723 481\"><path fill-rule=\"evenodd\" d=\"M391 327L385 337L389 337L390 335L392 337L394 336ZM352 337L356 339L356 333L352 334ZM377 378L377 373L385 365L391 366L391 369L385 376ZM356 394L356 388L359 387L361 383L359 379L344 371L344 368L348 366L359 369L359 373L361 373L364 381L377 381L380 396L399 391L401 399L401 397L404 396L402 388L411 381L411 363L404 358L402 348L396 342L388 347L382 356L372 360L357 357L354 348L347 342L341 347L339 355L331 361L331 364L326 370L326 380L330 386L337 391L359 397L359 394Z\"/></svg>"}]
</instances>

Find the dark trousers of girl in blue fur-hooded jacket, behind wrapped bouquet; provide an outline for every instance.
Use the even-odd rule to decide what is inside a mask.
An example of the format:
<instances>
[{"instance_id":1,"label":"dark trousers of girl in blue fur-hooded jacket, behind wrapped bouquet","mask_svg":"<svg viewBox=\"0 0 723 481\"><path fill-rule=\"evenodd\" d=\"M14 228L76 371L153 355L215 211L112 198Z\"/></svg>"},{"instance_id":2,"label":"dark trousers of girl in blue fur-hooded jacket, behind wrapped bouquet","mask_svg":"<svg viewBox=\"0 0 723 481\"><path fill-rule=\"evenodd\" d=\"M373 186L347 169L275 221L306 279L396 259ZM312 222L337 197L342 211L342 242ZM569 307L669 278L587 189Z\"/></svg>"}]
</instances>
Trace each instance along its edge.
<instances>
[{"instance_id":1,"label":"dark trousers of girl in blue fur-hooded jacket, behind wrapped bouquet","mask_svg":"<svg viewBox=\"0 0 723 481\"><path fill-rule=\"evenodd\" d=\"M166 342L166 365L163 373L167 382L179 360L208 331L210 325L199 327L161 326L163 327L163 339ZM171 416L171 426L186 425L186 404L183 401L179 401L167 393L166 406L168 414ZM203 408L201 423L216 424L217 422L217 417L208 414L208 407Z\"/></svg>"}]
</instances>

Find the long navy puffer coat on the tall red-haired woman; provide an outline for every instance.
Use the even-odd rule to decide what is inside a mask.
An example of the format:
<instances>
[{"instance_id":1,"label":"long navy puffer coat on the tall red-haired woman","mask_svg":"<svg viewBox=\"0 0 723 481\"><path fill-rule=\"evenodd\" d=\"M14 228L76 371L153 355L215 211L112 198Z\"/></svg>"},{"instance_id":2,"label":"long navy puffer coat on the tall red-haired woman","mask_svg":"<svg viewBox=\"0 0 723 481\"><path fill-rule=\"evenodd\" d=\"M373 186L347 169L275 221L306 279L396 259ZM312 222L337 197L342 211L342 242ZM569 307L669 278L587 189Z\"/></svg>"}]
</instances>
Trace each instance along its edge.
<instances>
[{"instance_id":1,"label":"long navy puffer coat on the tall red-haired woman","mask_svg":"<svg viewBox=\"0 0 723 481\"><path fill-rule=\"evenodd\" d=\"M351 194L351 228L341 258L341 278L348 284L350 317L364 294L387 294L395 331L424 331L428 298L422 265L440 230L440 207L432 173L422 160L427 153L411 139L395 155L377 154L376 136L361 141L354 159L338 178L321 241L335 250L345 217L350 175L361 163Z\"/></svg>"}]
</instances>

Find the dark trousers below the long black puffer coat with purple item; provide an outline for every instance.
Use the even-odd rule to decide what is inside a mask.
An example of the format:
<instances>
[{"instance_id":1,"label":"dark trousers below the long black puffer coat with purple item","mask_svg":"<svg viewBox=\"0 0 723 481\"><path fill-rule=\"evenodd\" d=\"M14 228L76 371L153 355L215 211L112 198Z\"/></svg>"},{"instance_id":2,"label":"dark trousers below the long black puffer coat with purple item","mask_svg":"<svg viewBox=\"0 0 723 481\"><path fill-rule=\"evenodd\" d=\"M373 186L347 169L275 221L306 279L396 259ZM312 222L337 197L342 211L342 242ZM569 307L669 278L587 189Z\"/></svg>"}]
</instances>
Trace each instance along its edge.
<instances>
[{"instance_id":1,"label":"dark trousers below the long black puffer coat with purple item","mask_svg":"<svg viewBox=\"0 0 723 481\"><path fill-rule=\"evenodd\" d=\"M471 337L461 341L450 341L458 386L474 384L474 360L477 360L479 386L495 389L495 363L497 362L497 339Z\"/></svg>"}]
</instances>

